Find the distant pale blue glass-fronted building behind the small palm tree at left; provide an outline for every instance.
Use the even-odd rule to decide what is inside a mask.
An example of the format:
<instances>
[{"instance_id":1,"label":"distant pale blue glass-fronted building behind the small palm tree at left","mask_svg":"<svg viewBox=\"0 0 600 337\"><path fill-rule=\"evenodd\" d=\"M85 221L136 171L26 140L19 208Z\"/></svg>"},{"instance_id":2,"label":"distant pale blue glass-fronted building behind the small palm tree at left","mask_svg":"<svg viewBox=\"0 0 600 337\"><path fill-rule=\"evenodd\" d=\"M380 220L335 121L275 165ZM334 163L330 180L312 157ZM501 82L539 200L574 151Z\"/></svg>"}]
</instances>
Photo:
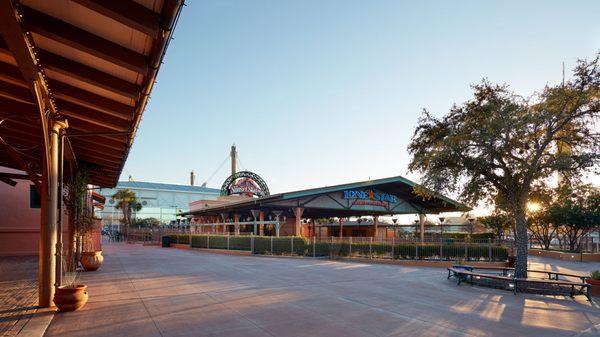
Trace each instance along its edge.
<instances>
[{"instance_id":1,"label":"distant pale blue glass-fronted building behind the small palm tree at left","mask_svg":"<svg viewBox=\"0 0 600 337\"><path fill-rule=\"evenodd\" d=\"M102 188L98 193L106 197L104 209L96 214L102 218L102 226L116 229L120 226L121 210L116 209L112 196L118 191L129 189L135 192L142 210L134 218L156 218L161 224L177 219L177 213L189 211L189 204L196 200L216 200L221 190L191 185L175 185L142 181L120 181L116 188Z\"/></svg>"}]
</instances>

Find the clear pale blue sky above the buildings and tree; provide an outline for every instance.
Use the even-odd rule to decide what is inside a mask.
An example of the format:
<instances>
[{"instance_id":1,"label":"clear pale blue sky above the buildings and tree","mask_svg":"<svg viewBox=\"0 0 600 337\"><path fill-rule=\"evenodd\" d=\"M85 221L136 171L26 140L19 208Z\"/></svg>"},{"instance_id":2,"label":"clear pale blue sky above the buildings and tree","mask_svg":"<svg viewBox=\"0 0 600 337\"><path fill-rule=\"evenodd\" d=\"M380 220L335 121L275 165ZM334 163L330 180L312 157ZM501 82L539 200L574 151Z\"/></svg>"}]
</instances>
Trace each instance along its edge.
<instances>
[{"instance_id":1,"label":"clear pale blue sky above the buildings and tree","mask_svg":"<svg viewBox=\"0 0 600 337\"><path fill-rule=\"evenodd\" d=\"M529 95L600 49L597 0L187 3L122 180L201 183L232 143L272 192L418 179L422 108L483 77Z\"/></svg>"}]
</instances>

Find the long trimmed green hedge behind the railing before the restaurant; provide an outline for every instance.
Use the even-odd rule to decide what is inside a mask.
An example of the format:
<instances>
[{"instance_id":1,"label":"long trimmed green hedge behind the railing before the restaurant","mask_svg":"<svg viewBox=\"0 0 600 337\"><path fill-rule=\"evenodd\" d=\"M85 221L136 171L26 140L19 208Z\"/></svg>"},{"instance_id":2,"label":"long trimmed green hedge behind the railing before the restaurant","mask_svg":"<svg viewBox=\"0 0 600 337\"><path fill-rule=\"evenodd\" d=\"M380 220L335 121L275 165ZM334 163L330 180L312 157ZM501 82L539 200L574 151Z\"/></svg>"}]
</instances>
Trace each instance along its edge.
<instances>
[{"instance_id":1,"label":"long trimmed green hedge behind the railing before the restaurant","mask_svg":"<svg viewBox=\"0 0 600 337\"><path fill-rule=\"evenodd\" d=\"M189 244L189 235L169 235L171 242ZM292 246L293 241L293 246ZM505 261L508 258L508 250L502 246L471 245L462 244L386 244L386 243L330 243L317 241L314 243L309 239L300 237L273 237L271 248L271 237L254 237L254 254L293 254L301 256L362 256L362 257L392 257L394 259L443 259L443 260L489 260L490 252L493 261ZM227 249L227 236L224 235L192 235L193 248ZM230 236L229 249L245 250L252 249L252 238L249 236ZM417 248L418 247L418 248ZM271 250L272 249L272 250ZM466 255L465 255L466 254Z\"/></svg>"}]
</instances>

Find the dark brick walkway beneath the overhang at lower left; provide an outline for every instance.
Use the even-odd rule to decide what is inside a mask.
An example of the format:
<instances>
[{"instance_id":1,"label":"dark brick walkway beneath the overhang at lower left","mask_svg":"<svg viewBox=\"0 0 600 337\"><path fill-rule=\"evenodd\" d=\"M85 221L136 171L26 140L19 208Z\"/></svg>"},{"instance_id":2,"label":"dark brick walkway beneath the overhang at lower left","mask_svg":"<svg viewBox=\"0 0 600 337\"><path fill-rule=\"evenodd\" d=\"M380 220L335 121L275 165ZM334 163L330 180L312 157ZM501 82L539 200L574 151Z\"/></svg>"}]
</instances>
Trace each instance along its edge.
<instances>
[{"instance_id":1,"label":"dark brick walkway beneath the overhang at lower left","mask_svg":"<svg viewBox=\"0 0 600 337\"><path fill-rule=\"evenodd\" d=\"M0 336L16 336L36 311L37 256L0 257Z\"/></svg>"}]
</instances>

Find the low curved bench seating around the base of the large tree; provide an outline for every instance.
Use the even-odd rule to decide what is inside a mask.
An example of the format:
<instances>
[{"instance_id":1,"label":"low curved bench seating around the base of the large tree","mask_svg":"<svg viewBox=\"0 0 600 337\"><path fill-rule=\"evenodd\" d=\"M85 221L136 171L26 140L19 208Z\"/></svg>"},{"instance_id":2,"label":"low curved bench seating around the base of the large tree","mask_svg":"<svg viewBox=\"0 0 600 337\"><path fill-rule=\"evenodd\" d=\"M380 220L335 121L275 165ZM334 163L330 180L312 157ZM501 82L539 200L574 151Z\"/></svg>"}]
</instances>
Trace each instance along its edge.
<instances>
[{"instance_id":1,"label":"low curved bench seating around the base of the large tree","mask_svg":"<svg viewBox=\"0 0 600 337\"><path fill-rule=\"evenodd\" d=\"M492 267L489 267L492 268ZM472 268L472 269L489 269L488 267L484 268ZM472 270L471 269L471 270ZM505 268L510 269L510 268ZM491 270L502 270L502 267L494 267ZM504 273L504 271L503 271ZM546 273L546 271L544 271ZM554 274L554 272L550 272ZM561 273L558 273L561 274ZM567 274L567 276L573 276L571 274ZM579 277L578 275L575 275ZM461 282L469 282L471 285L473 284L473 278L477 279L491 279L491 280L501 280L512 284L513 293L516 295L519 291L519 283L521 284L546 284L546 285L556 285L570 288L570 296L574 297L575 295L584 295L587 297L589 301L592 300L590 294L590 284L585 282L572 282L569 280L558 280L558 279L531 279L531 278L514 278L505 275L494 275L494 274L485 274L485 273L476 273L470 271L466 268L448 268L448 279L451 277L455 277L457 279L457 285L460 285ZM544 289L546 290L546 289Z\"/></svg>"}]
</instances>

